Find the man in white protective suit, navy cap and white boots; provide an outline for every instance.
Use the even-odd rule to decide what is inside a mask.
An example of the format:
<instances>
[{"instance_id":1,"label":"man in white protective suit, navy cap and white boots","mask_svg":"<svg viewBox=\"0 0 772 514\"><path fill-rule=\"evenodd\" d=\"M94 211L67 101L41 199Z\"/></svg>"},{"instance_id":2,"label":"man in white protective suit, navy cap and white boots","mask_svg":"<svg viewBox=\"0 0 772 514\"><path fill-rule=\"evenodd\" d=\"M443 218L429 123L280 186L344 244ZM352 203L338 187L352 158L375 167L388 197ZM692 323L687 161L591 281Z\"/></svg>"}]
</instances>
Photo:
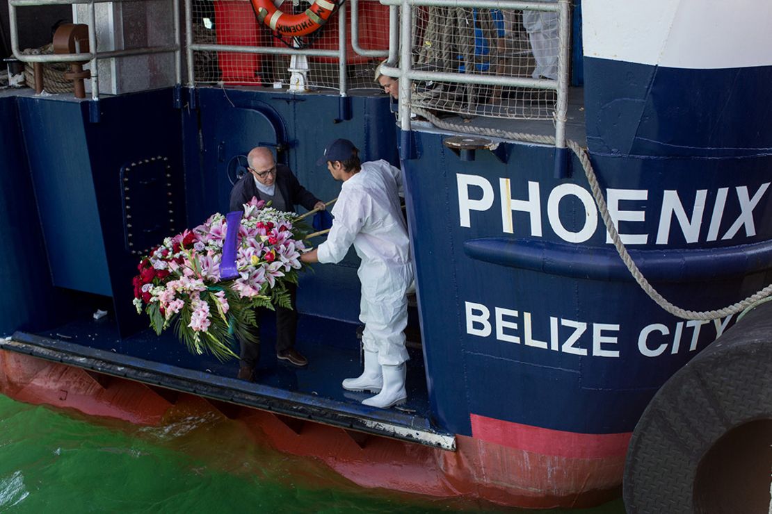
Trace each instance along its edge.
<instances>
[{"instance_id":1,"label":"man in white protective suit, navy cap and white boots","mask_svg":"<svg viewBox=\"0 0 772 514\"><path fill-rule=\"evenodd\" d=\"M405 327L413 280L410 244L402 217L401 171L384 160L360 163L359 150L347 139L336 139L319 164L342 180L327 241L300 258L306 263L337 263L353 244L361 258L357 274L362 284L359 319L364 323L364 372L343 381L348 391L377 392L364 405L389 408L405 403L408 351Z\"/></svg>"}]
</instances>

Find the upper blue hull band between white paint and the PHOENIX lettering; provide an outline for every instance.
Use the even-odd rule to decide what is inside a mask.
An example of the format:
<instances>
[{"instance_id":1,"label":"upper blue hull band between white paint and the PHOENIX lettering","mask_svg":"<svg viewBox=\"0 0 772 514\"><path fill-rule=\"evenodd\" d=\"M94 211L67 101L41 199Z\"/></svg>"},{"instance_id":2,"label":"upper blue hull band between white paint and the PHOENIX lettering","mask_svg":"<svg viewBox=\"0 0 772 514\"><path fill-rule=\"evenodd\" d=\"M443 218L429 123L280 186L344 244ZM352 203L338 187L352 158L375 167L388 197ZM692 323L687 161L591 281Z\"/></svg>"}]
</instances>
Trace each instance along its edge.
<instances>
[{"instance_id":1,"label":"upper blue hull band between white paint and the PHOENIX lettering","mask_svg":"<svg viewBox=\"0 0 772 514\"><path fill-rule=\"evenodd\" d=\"M593 153L742 157L772 149L772 66L678 69L585 57L584 76Z\"/></svg>"}]
</instances>

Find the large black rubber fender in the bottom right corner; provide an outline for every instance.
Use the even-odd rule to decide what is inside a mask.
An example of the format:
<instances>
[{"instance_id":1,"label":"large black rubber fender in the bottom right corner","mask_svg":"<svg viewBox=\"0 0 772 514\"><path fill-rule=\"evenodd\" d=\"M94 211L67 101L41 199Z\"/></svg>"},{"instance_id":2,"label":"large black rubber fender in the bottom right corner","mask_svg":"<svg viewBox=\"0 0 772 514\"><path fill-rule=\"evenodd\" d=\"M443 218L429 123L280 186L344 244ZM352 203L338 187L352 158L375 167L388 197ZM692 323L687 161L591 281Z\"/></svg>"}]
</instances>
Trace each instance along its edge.
<instances>
[{"instance_id":1,"label":"large black rubber fender in the bottom right corner","mask_svg":"<svg viewBox=\"0 0 772 514\"><path fill-rule=\"evenodd\" d=\"M772 301L660 388L635 426L625 509L767 512L772 454Z\"/></svg>"}]
</instances>

